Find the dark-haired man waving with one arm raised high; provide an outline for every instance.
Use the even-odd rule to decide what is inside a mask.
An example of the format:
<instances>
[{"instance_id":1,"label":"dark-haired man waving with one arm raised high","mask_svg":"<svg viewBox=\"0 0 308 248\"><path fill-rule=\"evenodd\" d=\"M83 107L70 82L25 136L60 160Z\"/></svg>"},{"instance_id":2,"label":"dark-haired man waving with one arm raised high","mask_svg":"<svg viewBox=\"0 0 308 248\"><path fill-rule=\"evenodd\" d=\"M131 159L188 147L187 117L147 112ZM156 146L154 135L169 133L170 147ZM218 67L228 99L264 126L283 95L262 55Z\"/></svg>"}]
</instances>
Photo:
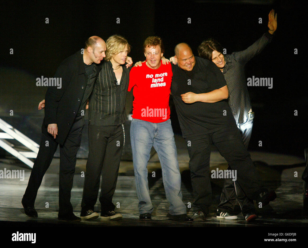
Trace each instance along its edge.
<instances>
[{"instance_id":1,"label":"dark-haired man waving with one arm raised high","mask_svg":"<svg viewBox=\"0 0 308 248\"><path fill-rule=\"evenodd\" d=\"M264 33L256 42L243 51L224 55L223 47L213 39L203 41L198 47L199 56L213 61L225 77L229 91L228 104L246 149L251 137L254 112L251 109L244 67L273 38L273 34L277 29L277 14L275 15L275 11L271 10L268 16L268 32ZM237 181L233 181L232 177L226 178L221 193L221 203L217 207L217 218L237 219L236 202L239 203L246 221L257 218L253 201L246 197Z\"/></svg>"}]
</instances>

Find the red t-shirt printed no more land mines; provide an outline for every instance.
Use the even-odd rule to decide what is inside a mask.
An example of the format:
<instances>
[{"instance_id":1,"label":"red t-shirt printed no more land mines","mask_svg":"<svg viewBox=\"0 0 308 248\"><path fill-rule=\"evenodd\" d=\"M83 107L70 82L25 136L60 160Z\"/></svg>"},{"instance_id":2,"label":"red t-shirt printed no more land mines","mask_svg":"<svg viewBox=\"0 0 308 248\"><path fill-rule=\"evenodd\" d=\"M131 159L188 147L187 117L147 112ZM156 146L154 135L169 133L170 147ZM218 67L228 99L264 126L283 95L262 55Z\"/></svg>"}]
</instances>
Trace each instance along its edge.
<instances>
[{"instance_id":1,"label":"red t-shirt printed no more land mines","mask_svg":"<svg viewBox=\"0 0 308 248\"><path fill-rule=\"evenodd\" d=\"M158 69L145 62L129 73L128 91L134 87L132 118L160 123L170 118L169 96L172 80L171 64L161 63Z\"/></svg>"}]
</instances>

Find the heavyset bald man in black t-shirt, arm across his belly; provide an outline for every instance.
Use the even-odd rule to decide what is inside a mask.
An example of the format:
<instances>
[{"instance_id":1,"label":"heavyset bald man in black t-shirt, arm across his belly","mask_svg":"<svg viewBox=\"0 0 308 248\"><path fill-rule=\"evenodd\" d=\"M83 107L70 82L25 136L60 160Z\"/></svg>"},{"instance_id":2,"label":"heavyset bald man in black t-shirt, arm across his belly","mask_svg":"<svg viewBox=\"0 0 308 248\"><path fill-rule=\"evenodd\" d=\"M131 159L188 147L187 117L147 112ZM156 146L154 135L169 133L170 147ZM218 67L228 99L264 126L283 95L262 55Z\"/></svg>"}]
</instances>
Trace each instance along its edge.
<instances>
[{"instance_id":1,"label":"heavyset bald man in black t-shirt, arm across his belly","mask_svg":"<svg viewBox=\"0 0 308 248\"><path fill-rule=\"evenodd\" d=\"M213 62L195 58L186 43L176 45L175 55L177 65L172 65L171 93L188 144L195 197L193 219L205 221L211 205L209 161L212 141L231 170L237 172L237 183L247 197L262 206L269 204L276 198L276 193L260 186L260 176L225 100L228 88L221 71Z\"/></svg>"}]
</instances>

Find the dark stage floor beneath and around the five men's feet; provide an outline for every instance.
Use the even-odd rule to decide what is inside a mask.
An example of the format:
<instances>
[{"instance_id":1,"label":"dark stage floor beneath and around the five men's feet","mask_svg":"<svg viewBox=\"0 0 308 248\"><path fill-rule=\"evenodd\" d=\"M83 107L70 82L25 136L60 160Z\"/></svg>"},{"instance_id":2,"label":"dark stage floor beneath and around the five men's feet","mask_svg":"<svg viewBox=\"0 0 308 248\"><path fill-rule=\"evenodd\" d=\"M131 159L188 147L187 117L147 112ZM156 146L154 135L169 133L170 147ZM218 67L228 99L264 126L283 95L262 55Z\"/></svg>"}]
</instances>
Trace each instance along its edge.
<instances>
[{"instance_id":1,"label":"dark stage floor beneath and around the five men's feet","mask_svg":"<svg viewBox=\"0 0 308 248\"><path fill-rule=\"evenodd\" d=\"M184 140L176 136L178 148L178 160L182 175L183 202L193 203L192 188L190 184L190 174L188 170L188 153ZM259 218L254 222L247 223L241 214L237 220L225 220L216 218L216 207L219 203L223 179L211 179L213 189L213 204L210 215L205 222L182 223L168 220L169 204L165 198L165 192L161 177L160 163L155 153L148 163L149 189L154 206L152 221L140 221L138 214L138 199L135 191L135 181L133 166L131 161L122 161L118 177L117 188L113 197L113 202L118 206L116 212L123 215L119 221L81 221L78 223L60 222L57 220L58 214L58 185L59 185L59 159L54 159L46 175L35 202L38 218L29 218L24 214L21 199L25 192L30 169L16 159L2 159L0 170L24 170L24 180L21 179L0 179L0 225L10 228L25 228L26 230L38 230L41 226L49 227L52 230L68 227L261 227L258 231L275 230L275 228L287 227L288 232L294 232L299 227L308 224L307 218L302 213L302 187L301 179L305 161L302 158L271 154L265 152L251 152L252 160L255 162L258 171L264 180L265 186L277 193L277 199L269 206L259 209ZM74 177L74 185L71 192L71 203L74 207L75 215L80 215L80 204L83 191L86 159L78 159ZM217 151L211 153L211 169L226 169L226 161ZM152 177L152 171L156 172L156 177ZM297 173L296 173L297 172ZM297 177L294 176L297 174ZM95 210L99 211L97 202ZM192 210L188 208L188 215L192 215ZM264 229L265 228L265 229ZM270 228L270 229L269 229ZM14 230L15 230L14 229ZM93 229L91 229L93 230ZM189 229L191 231L191 229ZM216 232L215 229L207 229ZM292 231L293 230L293 231ZM301 229L304 230L304 229ZM217 229L217 232L222 230ZM233 229L234 231L234 229ZM246 230L247 231L247 230ZM263 238L267 238L264 234ZM290 237L289 237L290 238Z\"/></svg>"}]
</instances>

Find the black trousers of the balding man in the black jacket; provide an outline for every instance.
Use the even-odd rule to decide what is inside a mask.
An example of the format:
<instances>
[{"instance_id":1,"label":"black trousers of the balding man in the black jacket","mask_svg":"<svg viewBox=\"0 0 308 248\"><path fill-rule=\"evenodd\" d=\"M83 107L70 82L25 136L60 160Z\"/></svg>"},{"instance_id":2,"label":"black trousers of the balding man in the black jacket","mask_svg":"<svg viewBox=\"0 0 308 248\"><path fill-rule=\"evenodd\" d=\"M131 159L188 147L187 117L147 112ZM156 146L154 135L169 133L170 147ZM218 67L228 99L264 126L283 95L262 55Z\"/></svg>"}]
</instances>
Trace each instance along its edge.
<instances>
[{"instance_id":1,"label":"black trousers of the balding man in the black jacket","mask_svg":"<svg viewBox=\"0 0 308 248\"><path fill-rule=\"evenodd\" d=\"M82 116L76 117L64 144L60 145L59 215L67 215L73 212L71 189L83 126ZM55 142L54 138L42 133L39 153L35 159L28 186L23 195L23 200L27 205L34 206L43 176L50 166L57 148L58 143Z\"/></svg>"}]
</instances>

